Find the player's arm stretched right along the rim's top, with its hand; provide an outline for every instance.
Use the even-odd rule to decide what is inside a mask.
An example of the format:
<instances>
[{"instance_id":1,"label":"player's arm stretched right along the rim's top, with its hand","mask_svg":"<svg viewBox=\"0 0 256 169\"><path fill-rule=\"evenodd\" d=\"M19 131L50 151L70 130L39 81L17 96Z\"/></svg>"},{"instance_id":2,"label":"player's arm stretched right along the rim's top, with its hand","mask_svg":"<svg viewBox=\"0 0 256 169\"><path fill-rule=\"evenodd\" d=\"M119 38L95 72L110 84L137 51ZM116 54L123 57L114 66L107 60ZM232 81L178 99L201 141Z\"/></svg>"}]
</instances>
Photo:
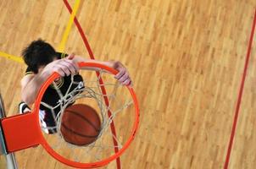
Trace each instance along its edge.
<instances>
[{"instance_id":1,"label":"player's arm stretched right along the rim's top, with its hand","mask_svg":"<svg viewBox=\"0 0 256 169\"><path fill-rule=\"evenodd\" d=\"M73 59L75 61L75 63L81 63L81 62L100 63L100 64L103 64L110 68L114 68L119 71L119 73L114 76L115 79L117 79L122 85L132 85L128 70L119 61L103 62L103 61L98 61L98 60L94 60L94 59L86 59L84 57L76 56L74 54L71 54L68 58ZM87 67L85 69L97 70L97 68L90 68L90 67Z\"/></svg>"}]
</instances>

